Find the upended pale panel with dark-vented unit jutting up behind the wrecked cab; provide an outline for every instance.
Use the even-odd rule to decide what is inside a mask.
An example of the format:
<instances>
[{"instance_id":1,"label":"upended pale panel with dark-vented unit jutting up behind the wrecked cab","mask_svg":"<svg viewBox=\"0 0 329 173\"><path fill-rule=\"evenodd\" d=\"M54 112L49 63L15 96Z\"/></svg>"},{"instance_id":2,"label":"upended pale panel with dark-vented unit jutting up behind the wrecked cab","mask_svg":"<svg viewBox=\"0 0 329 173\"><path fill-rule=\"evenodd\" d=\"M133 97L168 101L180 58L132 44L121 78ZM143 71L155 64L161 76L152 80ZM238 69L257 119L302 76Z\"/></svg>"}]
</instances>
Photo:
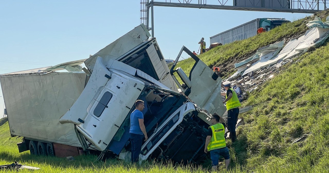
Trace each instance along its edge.
<instances>
[{"instance_id":1,"label":"upended pale panel with dark-vented unit jutting up behind the wrecked cab","mask_svg":"<svg viewBox=\"0 0 329 173\"><path fill-rule=\"evenodd\" d=\"M141 70L169 89L178 91L156 39L149 37L149 32L141 24L89 57L85 61L86 67L92 73L98 56L102 57L104 64L117 60Z\"/></svg>"}]
</instances>

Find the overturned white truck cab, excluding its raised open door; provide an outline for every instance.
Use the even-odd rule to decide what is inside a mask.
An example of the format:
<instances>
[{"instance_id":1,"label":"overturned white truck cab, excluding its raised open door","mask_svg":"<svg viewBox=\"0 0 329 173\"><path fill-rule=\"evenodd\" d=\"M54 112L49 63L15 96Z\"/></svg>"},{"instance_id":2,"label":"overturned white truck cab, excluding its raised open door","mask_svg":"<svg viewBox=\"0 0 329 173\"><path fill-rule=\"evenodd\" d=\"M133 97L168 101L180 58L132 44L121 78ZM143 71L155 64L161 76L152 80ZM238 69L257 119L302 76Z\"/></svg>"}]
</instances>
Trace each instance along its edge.
<instances>
[{"instance_id":1,"label":"overturned white truck cab, excluding its raised open door","mask_svg":"<svg viewBox=\"0 0 329 173\"><path fill-rule=\"evenodd\" d=\"M96 59L84 91L60 123L75 124L84 149L110 150L119 155L131 147L130 114L137 99L144 101L144 124L149 136L142 146L141 160L152 155L187 163L204 155L200 148L209 115L185 95L116 60L105 63L101 57ZM181 148L184 145L192 147Z\"/></svg>"}]
</instances>

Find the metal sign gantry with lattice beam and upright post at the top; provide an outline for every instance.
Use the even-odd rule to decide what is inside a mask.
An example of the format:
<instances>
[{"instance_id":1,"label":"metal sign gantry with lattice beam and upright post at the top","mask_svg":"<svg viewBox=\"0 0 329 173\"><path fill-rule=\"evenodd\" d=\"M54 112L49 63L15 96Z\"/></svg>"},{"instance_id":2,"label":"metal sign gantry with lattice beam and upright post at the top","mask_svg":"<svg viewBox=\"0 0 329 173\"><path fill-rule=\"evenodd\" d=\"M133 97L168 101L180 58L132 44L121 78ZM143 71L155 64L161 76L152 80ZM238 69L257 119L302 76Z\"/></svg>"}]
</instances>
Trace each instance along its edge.
<instances>
[{"instance_id":1,"label":"metal sign gantry with lattice beam and upright post at the top","mask_svg":"<svg viewBox=\"0 0 329 173\"><path fill-rule=\"evenodd\" d=\"M326 10L326 0L140 0L140 23L152 30L154 37L153 7L184 7L197 9L219 9L240 11L268 11L291 13L316 13ZM151 27L149 12L151 10Z\"/></svg>"}]
</instances>

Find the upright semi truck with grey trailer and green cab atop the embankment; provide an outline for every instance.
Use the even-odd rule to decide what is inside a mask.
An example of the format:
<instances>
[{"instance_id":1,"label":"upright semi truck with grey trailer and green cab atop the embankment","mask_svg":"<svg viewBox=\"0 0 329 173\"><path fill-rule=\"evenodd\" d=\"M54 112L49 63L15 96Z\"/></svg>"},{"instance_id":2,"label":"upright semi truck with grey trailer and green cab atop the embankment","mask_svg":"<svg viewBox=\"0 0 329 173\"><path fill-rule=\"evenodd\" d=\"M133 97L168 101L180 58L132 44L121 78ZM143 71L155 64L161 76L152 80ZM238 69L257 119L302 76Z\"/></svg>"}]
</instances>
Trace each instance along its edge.
<instances>
[{"instance_id":1,"label":"upright semi truck with grey trailer and green cab atop the embankment","mask_svg":"<svg viewBox=\"0 0 329 173\"><path fill-rule=\"evenodd\" d=\"M210 44L222 43L224 45L235 40L243 40L255 36L259 28L269 31L287 22L290 21L284 18L257 18L210 37Z\"/></svg>"}]
</instances>

